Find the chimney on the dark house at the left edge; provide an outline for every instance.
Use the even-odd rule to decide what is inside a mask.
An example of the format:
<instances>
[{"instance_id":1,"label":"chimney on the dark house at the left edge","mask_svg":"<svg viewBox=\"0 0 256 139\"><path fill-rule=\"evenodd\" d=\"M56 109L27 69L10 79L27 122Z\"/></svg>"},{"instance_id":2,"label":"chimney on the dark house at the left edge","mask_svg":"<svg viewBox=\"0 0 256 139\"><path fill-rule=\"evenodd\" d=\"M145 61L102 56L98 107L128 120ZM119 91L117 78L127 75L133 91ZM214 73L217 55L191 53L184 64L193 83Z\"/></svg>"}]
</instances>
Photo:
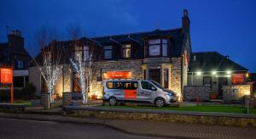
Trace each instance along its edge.
<instances>
[{"instance_id":1,"label":"chimney on the dark house at the left edge","mask_svg":"<svg viewBox=\"0 0 256 139\"><path fill-rule=\"evenodd\" d=\"M10 31L8 36L9 47L24 47L24 38L21 36L21 31Z\"/></svg>"}]
</instances>

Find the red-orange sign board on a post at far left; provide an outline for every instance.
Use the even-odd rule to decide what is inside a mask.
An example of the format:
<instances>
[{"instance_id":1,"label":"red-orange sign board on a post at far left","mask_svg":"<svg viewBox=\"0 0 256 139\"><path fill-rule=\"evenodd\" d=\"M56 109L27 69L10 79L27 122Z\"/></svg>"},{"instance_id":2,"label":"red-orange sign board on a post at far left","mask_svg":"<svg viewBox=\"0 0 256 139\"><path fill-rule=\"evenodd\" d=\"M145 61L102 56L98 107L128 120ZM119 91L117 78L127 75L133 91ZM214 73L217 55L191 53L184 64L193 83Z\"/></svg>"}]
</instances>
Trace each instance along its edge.
<instances>
[{"instance_id":1,"label":"red-orange sign board on a post at far left","mask_svg":"<svg viewBox=\"0 0 256 139\"><path fill-rule=\"evenodd\" d=\"M13 83L13 69L1 68L0 73L1 83Z\"/></svg>"}]
</instances>

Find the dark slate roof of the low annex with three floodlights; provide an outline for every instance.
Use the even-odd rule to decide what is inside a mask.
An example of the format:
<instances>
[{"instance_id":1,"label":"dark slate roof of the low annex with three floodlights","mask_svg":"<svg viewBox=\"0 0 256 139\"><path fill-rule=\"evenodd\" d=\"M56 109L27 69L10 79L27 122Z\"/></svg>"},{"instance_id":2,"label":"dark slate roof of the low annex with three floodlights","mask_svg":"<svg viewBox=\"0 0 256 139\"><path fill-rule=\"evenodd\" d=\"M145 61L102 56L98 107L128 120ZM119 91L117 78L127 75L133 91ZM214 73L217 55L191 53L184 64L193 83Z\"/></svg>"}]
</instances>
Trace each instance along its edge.
<instances>
[{"instance_id":1,"label":"dark slate roof of the low annex with three floodlights","mask_svg":"<svg viewBox=\"0 0 256 139\"><path fill-rule=\"evenodd\" d=\"M195 60L194 60L195 57ZM189 60L189 71L247 71L240 64L232 61L230 58L226 58L224 55L218 52L203 52L203 53L191 53Z\"/></svg>"}]
</instances>

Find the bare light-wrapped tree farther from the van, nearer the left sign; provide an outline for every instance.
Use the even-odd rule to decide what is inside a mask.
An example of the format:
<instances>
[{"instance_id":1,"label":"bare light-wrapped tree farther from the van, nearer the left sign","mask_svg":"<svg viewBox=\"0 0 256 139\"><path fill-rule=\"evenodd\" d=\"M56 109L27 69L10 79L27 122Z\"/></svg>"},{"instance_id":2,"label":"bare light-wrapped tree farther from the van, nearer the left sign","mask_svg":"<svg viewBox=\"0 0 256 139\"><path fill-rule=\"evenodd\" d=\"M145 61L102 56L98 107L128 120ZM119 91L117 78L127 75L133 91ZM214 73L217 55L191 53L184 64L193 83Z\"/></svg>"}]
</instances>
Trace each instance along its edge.
<instances>
[{"instance_id":1,"label":"bare light-wrapped tree farther from the van, nearer the left sign","mask_svg":"<svg viewBox=\"0 0 256 139\"><path fill-rule=\"evenodd\" d=\"M41 53L39 57L33 58L50 93L50 103L54 103L55 83L61 75L62 68L60 65L62 51L56 39L57 33L54 29L42 27L37 35L37 45Z\"/></svg>"}]
</instances>

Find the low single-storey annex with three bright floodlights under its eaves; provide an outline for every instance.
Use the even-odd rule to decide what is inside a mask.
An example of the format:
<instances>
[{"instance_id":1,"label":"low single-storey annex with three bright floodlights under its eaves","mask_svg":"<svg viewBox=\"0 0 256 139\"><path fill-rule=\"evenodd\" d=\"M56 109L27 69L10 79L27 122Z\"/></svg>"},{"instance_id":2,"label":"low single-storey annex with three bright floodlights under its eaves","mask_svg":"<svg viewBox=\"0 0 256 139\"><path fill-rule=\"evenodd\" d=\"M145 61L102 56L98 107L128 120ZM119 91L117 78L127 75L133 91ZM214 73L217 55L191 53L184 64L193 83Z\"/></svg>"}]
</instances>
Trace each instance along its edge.
<instances>
[{"instance_id":1,"label":"low single-storey annex with three bright floodlights under its eaves","mask_svg":"<svg viewBox=\"0 0 256 139\"><path fill-rule=\"evenodd\" d=\"M249 89L247 71L218 52L191 53L184 98L191 101L243 97Z\"/></svg>"}]
</instances>

